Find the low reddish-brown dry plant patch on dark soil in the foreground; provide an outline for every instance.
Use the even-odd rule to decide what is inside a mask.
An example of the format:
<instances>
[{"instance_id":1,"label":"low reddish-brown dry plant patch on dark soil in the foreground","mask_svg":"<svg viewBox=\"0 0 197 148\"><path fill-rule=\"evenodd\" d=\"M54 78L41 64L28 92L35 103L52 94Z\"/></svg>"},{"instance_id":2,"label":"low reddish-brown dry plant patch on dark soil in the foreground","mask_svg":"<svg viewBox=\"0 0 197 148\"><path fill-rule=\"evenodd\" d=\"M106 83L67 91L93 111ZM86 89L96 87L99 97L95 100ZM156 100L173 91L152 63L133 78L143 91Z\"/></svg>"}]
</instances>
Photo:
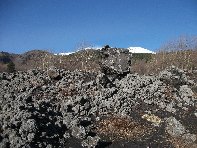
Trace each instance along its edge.
<instances>
[{"instance_id":1,"label":"low reddish-brown dry plant patch on dark soil in the foreground","mask_svg":"<svg viewBox=\"0 0 197 148\"><path fill-rule=\"evenodd\" d=\"M110 140L135 140L149 135L153 128L125 117L112 116L98 123L97 132Z\"/></svg>"}]
</instances>

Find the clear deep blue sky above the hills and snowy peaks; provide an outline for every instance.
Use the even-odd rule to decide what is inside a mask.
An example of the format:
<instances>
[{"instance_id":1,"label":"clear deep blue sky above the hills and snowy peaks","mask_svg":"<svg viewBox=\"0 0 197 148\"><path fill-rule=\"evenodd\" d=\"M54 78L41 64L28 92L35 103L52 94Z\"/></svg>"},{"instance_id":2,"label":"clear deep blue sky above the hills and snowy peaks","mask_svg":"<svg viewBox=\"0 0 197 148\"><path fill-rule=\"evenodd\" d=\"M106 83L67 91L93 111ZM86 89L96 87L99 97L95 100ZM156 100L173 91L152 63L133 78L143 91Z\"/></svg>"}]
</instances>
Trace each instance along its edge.
<instances>
[{"instance_id":1,"label":"clear deep blue sky above the hills and snowy peaks","mask_svg":"<svg viewBox=\"0 0 197 148\"><path fill-rule=\"evenodd\" d=\"M0 51L141 46L197 35L197 0L0 0Z\"/></svg>"}]
</instances>

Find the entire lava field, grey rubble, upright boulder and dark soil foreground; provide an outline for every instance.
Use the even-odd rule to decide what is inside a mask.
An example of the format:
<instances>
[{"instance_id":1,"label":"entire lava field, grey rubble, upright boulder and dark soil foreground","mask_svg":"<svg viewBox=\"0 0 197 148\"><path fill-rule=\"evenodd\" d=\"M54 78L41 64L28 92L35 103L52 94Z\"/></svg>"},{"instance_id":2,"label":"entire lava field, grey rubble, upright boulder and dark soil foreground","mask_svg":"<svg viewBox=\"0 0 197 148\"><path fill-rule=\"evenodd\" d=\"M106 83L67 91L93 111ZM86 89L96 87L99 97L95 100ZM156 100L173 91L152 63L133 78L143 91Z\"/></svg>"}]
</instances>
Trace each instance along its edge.
<instances>
[{"instance_id":1,"label":"entire lava field, grey rubble, upright boulder and dark soil foreground","mask_svg":"<svg viewBox=\"0 0 197 148\"><path fill-rule=\"evenodd\" d=\"M196 148L196 80L174 66L138 75L127 50L99 73L0 73L0 148Z\"/></svg>"}]
</instances>

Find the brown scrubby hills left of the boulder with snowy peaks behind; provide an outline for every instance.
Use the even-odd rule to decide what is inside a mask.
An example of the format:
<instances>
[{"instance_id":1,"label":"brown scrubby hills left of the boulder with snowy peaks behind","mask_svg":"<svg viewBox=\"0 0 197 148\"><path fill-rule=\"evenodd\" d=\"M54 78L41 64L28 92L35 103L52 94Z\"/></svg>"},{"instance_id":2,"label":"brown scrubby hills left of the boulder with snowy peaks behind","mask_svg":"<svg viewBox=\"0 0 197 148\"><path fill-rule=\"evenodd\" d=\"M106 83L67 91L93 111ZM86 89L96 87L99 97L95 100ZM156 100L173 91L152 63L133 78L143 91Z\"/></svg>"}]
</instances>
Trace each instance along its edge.
<instances>
[{"instance_id":1,"label":"brown scrubby hills left of the boulder with snowy peaks behind","mask_svg":"<svg viewBox=\"0 0 197 148\"><path fill-rule=\"evenodd\" d=\"M67 70L93 70L99 71L100 62L106 58L105 51L112 51L109 55L116 51L124 51L125 53L154 53L149 50L145 50L142 47L134 48L116 48L106 45L104 47L86 47L84 50L78 50L75 52L62 52L58 54L50 53L44 50L31 50L23 54L10 54L1 52L0 54L0 72L7 71L7 65L10 62L15 64L17 71L24 71L28 69L46 69L49 66L56 66L58 68L65 68ZM136 50L138 49L138 50ZM139 57L140 56L140 57ZM149 57L150 55L133 55L133 59ZM121 57L121 59L123 59Z\"/></svg>"}]
</instances>

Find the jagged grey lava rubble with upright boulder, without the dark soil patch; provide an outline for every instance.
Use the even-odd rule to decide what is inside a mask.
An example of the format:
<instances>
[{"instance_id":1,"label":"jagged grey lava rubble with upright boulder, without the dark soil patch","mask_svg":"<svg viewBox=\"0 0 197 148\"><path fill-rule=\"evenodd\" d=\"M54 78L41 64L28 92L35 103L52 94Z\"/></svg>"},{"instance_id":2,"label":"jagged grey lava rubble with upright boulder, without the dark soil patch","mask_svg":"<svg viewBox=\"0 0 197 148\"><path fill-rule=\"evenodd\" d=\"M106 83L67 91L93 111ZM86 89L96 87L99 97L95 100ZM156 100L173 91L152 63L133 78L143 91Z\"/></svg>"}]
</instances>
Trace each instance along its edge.
<instances>
[{"instance_id":1,"label":"jagged grey lava rubble with upright boulder, without the dark soil patch","mask_svg":"<svg viewBox=\"0 0 197 148\"><path fill-rule=\"evenodd\" d=\"M160 76L125 74L127 53L109 50L102 51L108 56L102 61L107 68L103 70L108 71L93 79L89 73L58 69L50 77L47 71L5 73L0 81L0 130L8 139L0 137L0 147L7 143L10 147L65 147L73 137L83 139L85 147L95 147L99 137L86 133L95 132L94 123L111 113L128 116L137 112L138 116L151 110L165 118L180 111L181 119L191 111L192 117L197 116L190 110L197 101L184 71L172 67ZM185 130L187 126L170 117L165 129L173 137L194 142L196 136Z\"/></svg>"}]
</instances>

